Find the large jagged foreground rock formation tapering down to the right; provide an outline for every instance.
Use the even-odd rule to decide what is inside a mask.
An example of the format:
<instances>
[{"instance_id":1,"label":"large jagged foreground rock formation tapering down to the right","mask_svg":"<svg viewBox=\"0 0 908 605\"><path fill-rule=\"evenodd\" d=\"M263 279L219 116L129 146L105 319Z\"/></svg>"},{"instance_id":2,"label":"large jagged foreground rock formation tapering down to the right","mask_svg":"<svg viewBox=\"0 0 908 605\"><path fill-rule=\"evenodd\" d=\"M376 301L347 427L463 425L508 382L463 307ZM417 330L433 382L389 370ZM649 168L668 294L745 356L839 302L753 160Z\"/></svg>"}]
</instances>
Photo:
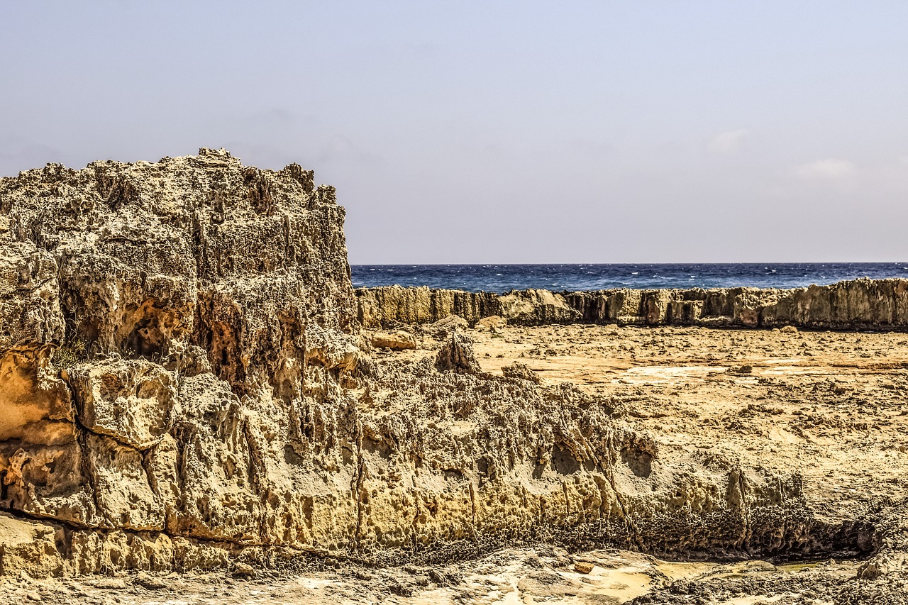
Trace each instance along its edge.
<instances>
[{"instance_id":1,"label":"large jagged foreground rock formation tapering down to the right","mask_svg":"<svg viewBox=\"0 0 908 605\"><path fill-rule=\"evenodd\" d=\"M796 471L666 455L595 393L483 372L456 327L376 359L343 217L310 171L224 150L0 179L0 574L903 548L869 508L815 514Z\"/></svg>"}]
</instances>

